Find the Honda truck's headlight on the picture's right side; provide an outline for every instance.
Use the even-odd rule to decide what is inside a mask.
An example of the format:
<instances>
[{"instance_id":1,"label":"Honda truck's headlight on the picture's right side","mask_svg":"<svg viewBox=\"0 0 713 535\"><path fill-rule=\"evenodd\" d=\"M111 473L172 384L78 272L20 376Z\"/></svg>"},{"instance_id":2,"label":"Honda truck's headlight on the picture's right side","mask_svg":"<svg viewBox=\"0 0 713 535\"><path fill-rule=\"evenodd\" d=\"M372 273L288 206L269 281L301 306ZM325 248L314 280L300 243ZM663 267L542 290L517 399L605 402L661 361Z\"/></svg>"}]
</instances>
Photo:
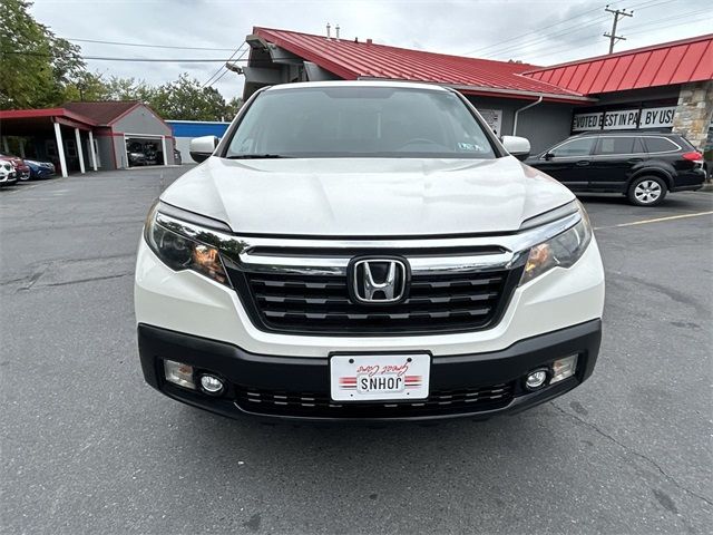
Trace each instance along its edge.
<instances>
[{"instance_id":1,"label":"Honda truck's headlight on the picture's right side","mask_svg":"<svg viewBox=\"0 0 713 535\"><path fill-rule=\"evenodd\" d=\"M579 260L592 241L589 217L582 206L579 206L579 213L582 220L575 226L530 249L520 284L538 278L553 268L570 268Z\"/></svg>"}]
</instances>

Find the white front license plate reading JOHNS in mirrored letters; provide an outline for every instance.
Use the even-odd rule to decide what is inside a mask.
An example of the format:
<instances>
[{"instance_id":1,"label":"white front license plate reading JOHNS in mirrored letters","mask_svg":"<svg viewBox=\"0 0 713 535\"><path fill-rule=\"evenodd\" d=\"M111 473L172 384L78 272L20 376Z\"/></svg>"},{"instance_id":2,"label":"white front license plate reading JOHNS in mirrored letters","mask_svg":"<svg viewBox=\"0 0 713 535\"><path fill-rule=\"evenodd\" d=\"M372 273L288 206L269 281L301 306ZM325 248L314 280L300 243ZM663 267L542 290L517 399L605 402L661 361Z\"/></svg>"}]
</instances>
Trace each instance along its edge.
<instances>
[{"instance_id":1,"label":"white front license plate reading JOHNS in mirrored letters","mask_svg":"<svg viewBox=\"0 0 713 535\"><path fill-rule=\"evenodd\" d=\"M429 354L339 354L330 361L334 401L428 398Z\"/></svg>"}]
</instances>

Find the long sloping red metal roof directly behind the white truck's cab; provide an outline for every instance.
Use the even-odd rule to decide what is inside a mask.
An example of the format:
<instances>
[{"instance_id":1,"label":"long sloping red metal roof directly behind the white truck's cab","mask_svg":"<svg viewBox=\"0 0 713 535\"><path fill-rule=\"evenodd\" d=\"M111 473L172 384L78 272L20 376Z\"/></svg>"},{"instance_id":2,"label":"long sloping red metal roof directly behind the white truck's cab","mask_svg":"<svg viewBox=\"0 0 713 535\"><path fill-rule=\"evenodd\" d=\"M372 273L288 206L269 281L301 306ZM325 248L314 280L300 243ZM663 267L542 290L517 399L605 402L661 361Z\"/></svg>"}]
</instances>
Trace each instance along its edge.
<instances>
[{"instance_id":1,"label":"long sloping red metal roof directly behind the white truck's cab","mask_svg":"<svg viewBox=\"0 0 713 535\"><path fill-rule=\"evenodd\" d=\"M546 100L582 101L582 95L521 72L528 64L465 58L384 45L326 39L296 31L253 28L253 33L341 78L427 81L455 87L462 93L514 98L544 96Z\"/></svg>"}]
</instances>

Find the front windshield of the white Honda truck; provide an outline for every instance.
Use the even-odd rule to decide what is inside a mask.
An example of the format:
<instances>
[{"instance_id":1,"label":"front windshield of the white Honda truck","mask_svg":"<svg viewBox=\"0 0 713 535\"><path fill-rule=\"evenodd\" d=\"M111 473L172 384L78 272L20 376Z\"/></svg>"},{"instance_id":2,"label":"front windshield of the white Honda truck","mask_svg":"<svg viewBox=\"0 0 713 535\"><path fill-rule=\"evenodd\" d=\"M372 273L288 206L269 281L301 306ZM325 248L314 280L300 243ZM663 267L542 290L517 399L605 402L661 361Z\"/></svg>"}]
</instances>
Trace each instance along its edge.
<instances>
[{"instance_id":1,"label":"front windshield of the white Honda truck","mask_svg":"<svg viewBox=\"0 0 713 535\"><path fill-rule=\"evenodd\" d=\"M394 87L267 90L242 118L227 158L495 158L484 127L450 93Z\"/></svg>"}]
</instances>

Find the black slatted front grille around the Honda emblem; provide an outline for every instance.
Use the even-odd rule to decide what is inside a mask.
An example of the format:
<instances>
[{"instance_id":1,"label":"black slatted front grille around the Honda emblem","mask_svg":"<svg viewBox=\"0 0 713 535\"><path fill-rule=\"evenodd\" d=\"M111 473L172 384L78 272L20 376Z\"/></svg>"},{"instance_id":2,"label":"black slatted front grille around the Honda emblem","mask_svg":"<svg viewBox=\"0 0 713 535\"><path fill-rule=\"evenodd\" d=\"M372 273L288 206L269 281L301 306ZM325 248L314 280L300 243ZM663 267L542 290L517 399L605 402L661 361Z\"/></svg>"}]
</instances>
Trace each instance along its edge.
<instances>
[{"instance_id":1,"label":"black slatted front grille around the Honda emblem","mask_svg":"<svg viewBox=\"0 0 713 535\"><path fill-rule=\"evenodd\" d=\"M255 324L297 334L398 334L485 329L504 310L518 270L416 273L394 304L352 302L343 274L251 272L226 265ZM518 272L518 273L516 273Z\"/></svg>"}]
</instances>

